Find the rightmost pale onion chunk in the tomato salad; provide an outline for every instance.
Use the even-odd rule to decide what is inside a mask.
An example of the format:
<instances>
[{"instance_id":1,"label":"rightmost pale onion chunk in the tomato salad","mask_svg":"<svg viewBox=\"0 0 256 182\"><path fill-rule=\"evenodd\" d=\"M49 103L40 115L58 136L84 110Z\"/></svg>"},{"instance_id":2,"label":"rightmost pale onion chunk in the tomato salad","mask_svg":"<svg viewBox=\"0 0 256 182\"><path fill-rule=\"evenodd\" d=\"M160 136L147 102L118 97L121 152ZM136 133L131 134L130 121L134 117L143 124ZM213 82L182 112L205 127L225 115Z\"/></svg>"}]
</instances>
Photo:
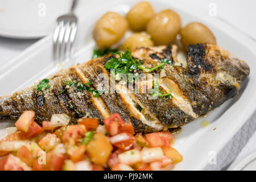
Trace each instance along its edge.
<instances>
[{"instance_id":1,"label":"rightmost pale onion chunk in the tomato salad","mask_svg":"<svg viewBox=\"0 0 256 182\"><path fill-rule=\"evenodd\" d=\"M147 148L144 147L141 151L142 162L150 163L160 160L163 157L163 150L161 147Z\"/></svg>"}]
</instances>

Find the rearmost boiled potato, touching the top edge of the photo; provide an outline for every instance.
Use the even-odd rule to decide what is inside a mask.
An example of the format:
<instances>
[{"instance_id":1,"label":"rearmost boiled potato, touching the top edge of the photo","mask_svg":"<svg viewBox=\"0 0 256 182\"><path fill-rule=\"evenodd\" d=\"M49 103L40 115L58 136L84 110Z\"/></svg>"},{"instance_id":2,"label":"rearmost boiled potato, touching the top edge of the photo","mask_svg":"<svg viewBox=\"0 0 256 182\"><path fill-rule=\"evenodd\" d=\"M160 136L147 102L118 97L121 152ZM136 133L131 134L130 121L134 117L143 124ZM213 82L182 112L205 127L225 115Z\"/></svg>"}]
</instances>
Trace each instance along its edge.
<instances>
[{"instance_id":1,"label":"rearmost boiled potato, touching the top edge of the photo","mask_svg":"<svg viewBox=\"0 0 256 182\"><path fill-rule=\"evenodd\" d=\"M146 29L147 22L154 16L154 10L147 1L139 2L127 13L127 20L131 30L142 31Z\"/></svg>"}]
</instances>

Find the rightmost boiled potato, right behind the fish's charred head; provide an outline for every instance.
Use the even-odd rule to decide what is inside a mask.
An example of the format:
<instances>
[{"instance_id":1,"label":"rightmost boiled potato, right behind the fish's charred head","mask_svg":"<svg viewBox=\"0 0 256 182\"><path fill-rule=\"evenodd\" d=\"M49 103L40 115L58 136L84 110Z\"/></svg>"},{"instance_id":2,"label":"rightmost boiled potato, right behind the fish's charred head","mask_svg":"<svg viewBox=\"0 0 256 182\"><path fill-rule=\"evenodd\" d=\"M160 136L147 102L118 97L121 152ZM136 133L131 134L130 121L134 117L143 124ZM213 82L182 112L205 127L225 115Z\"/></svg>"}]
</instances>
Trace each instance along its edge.
<instances>
[{"instance_id":1,"label":"rightmost boiled potato, right behind the fish's charred head","mask_svg":"<svg viewBox=\"0 0 256 182\"><path fill-rule=\"evenodd\" d=\"M185 49L189 44L210 43L216 44L216 39L210 29L202 23L189 23L180 31L181 42Z\"/></svg>"}]
</instances>

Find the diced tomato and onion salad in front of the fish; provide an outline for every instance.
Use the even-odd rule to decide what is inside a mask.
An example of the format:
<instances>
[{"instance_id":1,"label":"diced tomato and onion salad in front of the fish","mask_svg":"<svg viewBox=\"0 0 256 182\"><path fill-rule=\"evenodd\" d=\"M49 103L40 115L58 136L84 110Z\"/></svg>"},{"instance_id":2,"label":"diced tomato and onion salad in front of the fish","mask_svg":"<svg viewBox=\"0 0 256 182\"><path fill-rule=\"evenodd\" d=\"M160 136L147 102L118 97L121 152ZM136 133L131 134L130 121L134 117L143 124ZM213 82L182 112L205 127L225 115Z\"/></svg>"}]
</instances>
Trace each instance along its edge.
<instances>
[{"instance_id":1,"label":"diced tomato and onion salad in front of the fish","mask_svg":"<svg viewBox=\"0 0 256 182\"><path fill-rule=\"evenodd\" d=\"M81 118L68 125L65 114L53 114L42 126L34 111L24 111L0 141L0 170L171 170L182 155L169 131L135 134L133 125L112 114L100 125Z\"/></svg>"}]
</instances>

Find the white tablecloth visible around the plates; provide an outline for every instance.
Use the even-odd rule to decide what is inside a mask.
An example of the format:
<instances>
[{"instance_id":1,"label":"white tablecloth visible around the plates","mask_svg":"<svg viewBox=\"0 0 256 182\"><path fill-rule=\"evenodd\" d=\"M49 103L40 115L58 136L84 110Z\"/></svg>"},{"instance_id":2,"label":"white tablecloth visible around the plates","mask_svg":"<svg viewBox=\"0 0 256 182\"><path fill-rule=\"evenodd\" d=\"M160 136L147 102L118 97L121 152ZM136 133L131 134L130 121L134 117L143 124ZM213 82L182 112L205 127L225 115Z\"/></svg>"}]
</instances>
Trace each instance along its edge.
<instances>
[{"instance_id":1,"label":"white tablecloth visible around the plates","mask_svg":"<svg viewBox=\"0 0 256 182\"><path fill-rule=\"evenodd\" d=\"M98 1L90 2L87 7L98 5ZM195 10L200 10L205 15L208 15L209 4L213 1L210 0L180 0L185 6L191 6ZM220 1L215 0L214 3L217 7L216 18L224 20L237 30L243 32L251 39L256 40L256 1ZM13 59L20 52L35 43L36 40L17 40L0 38L0 66ZM232 168L234 164L240 162L245 156L256 150L256 111L250 119L243 125L243 127L234 135L233 139L223 148L217 155L217 164L208 165L207 170L221 170ZM230 126L232 127L232 126ZM249 142L248 142L249 141ZM231 164L231 165L230 165Z\"/></svg>"}]
</instances>

